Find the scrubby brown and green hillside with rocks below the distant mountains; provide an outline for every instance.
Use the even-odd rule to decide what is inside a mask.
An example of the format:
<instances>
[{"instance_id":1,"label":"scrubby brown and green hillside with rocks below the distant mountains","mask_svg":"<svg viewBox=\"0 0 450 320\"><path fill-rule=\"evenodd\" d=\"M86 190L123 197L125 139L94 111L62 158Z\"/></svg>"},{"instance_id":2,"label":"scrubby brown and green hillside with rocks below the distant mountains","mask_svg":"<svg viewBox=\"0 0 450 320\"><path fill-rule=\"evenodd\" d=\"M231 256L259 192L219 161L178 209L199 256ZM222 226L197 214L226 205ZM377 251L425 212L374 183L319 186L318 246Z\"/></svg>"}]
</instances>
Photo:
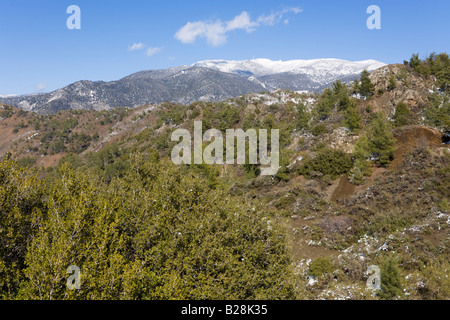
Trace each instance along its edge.
<instances>
[{"instance_id":1,"label":"scrubby brown and green hillside with rocks below the distant mountains","mask_svg":"<svg viewBox=\"0 0 450 320\"><path fill-rule=\"evenodd\" d=\"M37 297L31 280L71 261L54 252L101 242L77 251L97 276L72 298L448 299L449 84L440 54L335 80L322 93L49 115L0 106L2 226L22 230L12 239L0 229L0 292ZM279 129L277 174L175 166L171 134L192 132L194 121L204 130ZM98 261L118 261L120 276ZM367 289L372 265L379 291ZM105 283L114 285L102 295L95 288ZM43 279L43 292L51 285Z\"/></svg>"}]
</instances>

